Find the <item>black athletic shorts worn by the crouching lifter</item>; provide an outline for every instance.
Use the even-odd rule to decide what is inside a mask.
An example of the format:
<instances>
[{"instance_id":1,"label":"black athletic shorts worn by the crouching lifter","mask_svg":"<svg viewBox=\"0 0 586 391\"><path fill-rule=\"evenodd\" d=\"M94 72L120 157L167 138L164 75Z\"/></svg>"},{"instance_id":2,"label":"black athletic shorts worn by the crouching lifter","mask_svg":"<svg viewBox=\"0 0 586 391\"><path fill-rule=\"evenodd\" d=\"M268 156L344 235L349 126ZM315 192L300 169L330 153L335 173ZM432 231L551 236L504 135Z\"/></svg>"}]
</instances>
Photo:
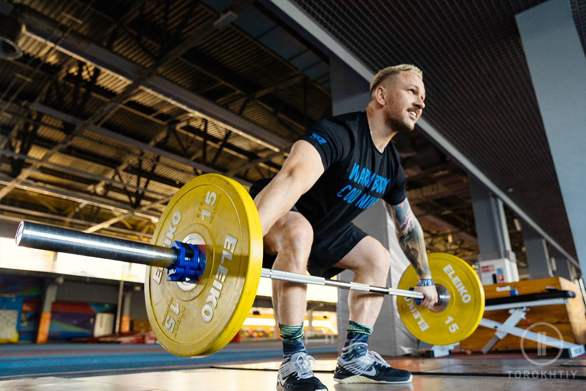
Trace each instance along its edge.
<instances>
[{"instance_id":1,"label":"black athletic shorts worn by the crouching lifter","mask_svg":"<svg viewBox=\"0 0 586 391\"><path fill-rule=\"evenodd\" d=\"M266 182L262 184L256 182L250 187L250 195L253 199L266 184ZM296 206L293 206L291 211L301 213ZM337 230L331 236L314 239L307 264L309 274L312 276L332 278L342 272L344 270L343 268L332 267L332 265L346 256L365 236L367 236L366 232L353 223L350 223L342 229ZM263 267L271 268L276 258L276 255L264 253Z\"/></svg>"}]
</instances>

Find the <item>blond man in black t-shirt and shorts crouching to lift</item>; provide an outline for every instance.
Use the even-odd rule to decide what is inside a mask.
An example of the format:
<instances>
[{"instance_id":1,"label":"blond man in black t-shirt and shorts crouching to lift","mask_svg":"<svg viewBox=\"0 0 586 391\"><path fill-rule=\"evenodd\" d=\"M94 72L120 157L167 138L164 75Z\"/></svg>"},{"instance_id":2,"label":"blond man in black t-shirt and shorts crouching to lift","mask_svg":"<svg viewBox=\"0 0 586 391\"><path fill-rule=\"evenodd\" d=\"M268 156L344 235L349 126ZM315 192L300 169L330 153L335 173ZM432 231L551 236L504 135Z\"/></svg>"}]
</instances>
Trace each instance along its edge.
<instances>
[{"instance_id":1,"label":"blond man in black t-shirt and shorts crouching to lift","mask_svg":"<svg viewBox=\"0 0 586 391\"><path fill-rule=\"evenodd\" d=\"M370 103L362 113L319 121L295 142L281 171L258 181L250 193L264 236L264 267L326 278L343 269L356 283L384 285L389 251L352 220L378 199L392 206L401 248L419 277L414 288L427 308L438 295L431 279L423 230L406 199L406 177L390 142L412 131L425 107L420 69L387 67L370 84ZM303 344L306 285L272 281L272 300L283 342L278 390L325 390L311 370ZM383 295L350 291L346 343L334 380L342 383L405 383L411 373L391 368L367 342Z\"/></svg>"}]
</instances>

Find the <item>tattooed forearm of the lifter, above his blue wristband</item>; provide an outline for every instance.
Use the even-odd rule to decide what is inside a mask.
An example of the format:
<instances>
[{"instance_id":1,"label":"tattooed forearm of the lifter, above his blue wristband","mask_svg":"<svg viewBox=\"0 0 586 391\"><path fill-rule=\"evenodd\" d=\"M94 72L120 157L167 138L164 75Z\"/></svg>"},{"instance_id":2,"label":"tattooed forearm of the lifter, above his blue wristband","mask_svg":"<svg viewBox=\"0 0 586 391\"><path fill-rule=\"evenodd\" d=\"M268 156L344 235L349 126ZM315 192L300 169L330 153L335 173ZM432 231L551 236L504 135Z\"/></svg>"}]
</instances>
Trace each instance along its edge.
<instances>
[{"instance_id":1,"label":"tattooed forearm of the lifter, above his blue wristband","mask_svg":"<svg viewBox=\"0 0 586 391\"><path fill-rule=\"evenodd\" d=\"M423 229L417 221L411 210L407 199L394 209L395 226L397 230L397 239L405 253L407 259L411 262L418 276L423 274L430 276L430 265L427 262L427 253L425 252L425 240Z\"/></svg>"}]
</instances>

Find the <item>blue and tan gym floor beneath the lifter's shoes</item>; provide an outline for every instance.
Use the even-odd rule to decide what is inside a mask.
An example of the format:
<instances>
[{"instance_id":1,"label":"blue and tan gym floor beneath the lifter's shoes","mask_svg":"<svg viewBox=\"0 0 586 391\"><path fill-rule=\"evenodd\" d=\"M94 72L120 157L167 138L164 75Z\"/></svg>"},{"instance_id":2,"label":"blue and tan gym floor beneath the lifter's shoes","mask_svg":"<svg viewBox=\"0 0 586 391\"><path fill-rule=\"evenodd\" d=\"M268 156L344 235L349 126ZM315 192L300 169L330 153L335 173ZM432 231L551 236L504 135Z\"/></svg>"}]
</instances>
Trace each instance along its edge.
<instances>
[{"instance_id":1,"label":"blue and tan gym floor beneath the lifter's shoes","mask_svg":"<svg viewBox=\"0 0 586 391\"><path fill-rule=\"evenodd\" d=\"M341 385L333 381L335 345L310 344L316 376L329 390L583 390L586 355L568 360L520 353L387 358L414 373L407 385ZM231 344L205 358L179 358L158 345L0 346L2 391L274 390L278 342ZM551 363L546 364L548 361Z\"/></svg>"}]
</instances>

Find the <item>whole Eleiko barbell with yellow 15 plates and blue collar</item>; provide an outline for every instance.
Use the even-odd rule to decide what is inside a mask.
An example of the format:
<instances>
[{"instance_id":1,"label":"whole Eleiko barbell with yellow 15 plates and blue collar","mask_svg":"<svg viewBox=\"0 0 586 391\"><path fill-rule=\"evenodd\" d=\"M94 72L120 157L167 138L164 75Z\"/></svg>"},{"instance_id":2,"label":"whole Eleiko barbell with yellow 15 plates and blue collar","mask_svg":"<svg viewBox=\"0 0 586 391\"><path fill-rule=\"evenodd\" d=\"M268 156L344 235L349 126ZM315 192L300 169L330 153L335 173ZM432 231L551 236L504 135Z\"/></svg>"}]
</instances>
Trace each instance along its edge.
<instances>
[{"instance_id":1,"label":"whole Eleiko barbell with yellow 15 plates and blue collar","mask_svg":"<svg viewBox=\"0 0 586 391\"><path fill-rule=\"evenodd\" d=\"M451 254L428 254L439 297L431 310L416 304L423 293L409 290L418 280L412 267L397 288L263 268L263 234L254 202L240 183L217 174L197 176L179 189L155 227L152 244L30 222L21 222L15 239L19 246L147 265L149 322L159 343L178 356L222 349L250 312L260 277L396 295L408 331L431 345L467 338L484 311L478 276ZM170 280L185 264L192 265L197 278L188 281L179 273L180 281Z\"/></svg>"}]
</instances>

